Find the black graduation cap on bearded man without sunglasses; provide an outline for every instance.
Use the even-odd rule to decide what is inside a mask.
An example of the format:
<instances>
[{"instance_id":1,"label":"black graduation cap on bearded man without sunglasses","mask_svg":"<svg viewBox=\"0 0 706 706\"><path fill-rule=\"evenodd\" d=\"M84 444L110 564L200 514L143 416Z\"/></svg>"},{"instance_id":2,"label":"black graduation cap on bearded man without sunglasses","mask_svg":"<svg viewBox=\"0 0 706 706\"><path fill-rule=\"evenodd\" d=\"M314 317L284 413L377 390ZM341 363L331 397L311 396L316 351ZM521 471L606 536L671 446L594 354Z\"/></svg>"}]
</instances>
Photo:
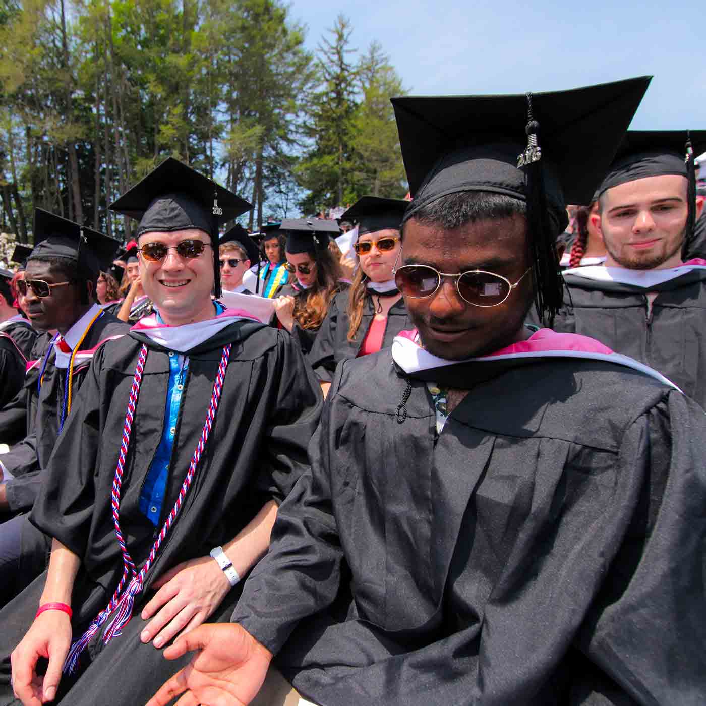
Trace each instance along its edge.
<instances>
[{"instance_id":1,"label":"black graduation cap on bearded man without sunglasses","mask_svg":"<svg viewBox=\"0 0 706 706\"><path fill-rule=\"evenodd\" d=\"M706 148L706 130L630 130L599 187L599 195L628 181L677 174L688 181L686 241L696 221L695 157Z\"/></svg>"}]
</instances>

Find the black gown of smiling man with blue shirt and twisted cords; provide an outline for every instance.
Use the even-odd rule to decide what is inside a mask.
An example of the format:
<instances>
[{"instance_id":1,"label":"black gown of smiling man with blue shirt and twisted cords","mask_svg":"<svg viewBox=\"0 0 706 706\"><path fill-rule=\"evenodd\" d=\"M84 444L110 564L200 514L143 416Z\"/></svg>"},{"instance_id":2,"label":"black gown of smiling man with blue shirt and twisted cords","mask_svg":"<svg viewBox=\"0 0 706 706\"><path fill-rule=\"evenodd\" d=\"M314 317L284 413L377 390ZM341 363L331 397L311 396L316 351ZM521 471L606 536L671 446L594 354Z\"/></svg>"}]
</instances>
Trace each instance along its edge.
<instances>
[{"instance_id":1,"label":"black gown of smiling man with blue shirt and twisted cords","mask_svg":"<svg viewBox=\"0 0 706 706\"><path fill-rule=\"evenodd\" d=\"M120 521L138 569L145 562L155 527L140 512L139 500L162 437L169 357L167 349L141 334L131 332L95 354L30 515L34 525L80 557L72 597L74 638L107 605L122 573L110 499L128 395L143 342L149 352L125 465ZM322 405L313 373L289 335L258 323L233 323L187 352L189 371L162 520L174 505L201 436L222 346L227 342L232 343L232 350L220 406L181 512L147 575L144 592L136 599L132 620L123 635L106 647L101 640L89 647L82 664L92 664L61 700L66 705L145 703L179 668L178 663L164 660L160 650L139 641L145 626L139 615L152 595L152 582L177 563L208 556L214 546L232 539L265 502L275 499L279 503L309 467L306 444ZM32 621L44 578L37 578L0 611L0 625L9 626L0 630L0 705L11 702L9 654ZM227 620L231 612L232 605L223 618ZM70 684L64 681L64 688ZM105 689L110 693L102 700L96 693Z\"/></svg>"}]
</instances>

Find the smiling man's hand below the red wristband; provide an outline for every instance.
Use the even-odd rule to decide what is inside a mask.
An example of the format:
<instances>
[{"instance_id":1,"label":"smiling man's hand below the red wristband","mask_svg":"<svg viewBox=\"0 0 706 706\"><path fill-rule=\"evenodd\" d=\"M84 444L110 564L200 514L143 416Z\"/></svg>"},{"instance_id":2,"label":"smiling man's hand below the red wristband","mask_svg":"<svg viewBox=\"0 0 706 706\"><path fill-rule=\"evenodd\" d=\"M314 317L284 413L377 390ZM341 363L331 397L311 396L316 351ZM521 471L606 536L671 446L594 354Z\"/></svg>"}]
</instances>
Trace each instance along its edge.
<instances>
[{"instance_id":1,"label":"smiling man's hand below the red wristband","mask_svg":"<svg viewBox=\"0 0 706 706\"><path fill-rule=\"evenodd\" d=\"M64 611L44 611L10 655L12 688L24 706L53 701L61 669L71 647L71 618ZM44 676L37 675L37 659L49 658Z\"/></svg>"}]
</instances>

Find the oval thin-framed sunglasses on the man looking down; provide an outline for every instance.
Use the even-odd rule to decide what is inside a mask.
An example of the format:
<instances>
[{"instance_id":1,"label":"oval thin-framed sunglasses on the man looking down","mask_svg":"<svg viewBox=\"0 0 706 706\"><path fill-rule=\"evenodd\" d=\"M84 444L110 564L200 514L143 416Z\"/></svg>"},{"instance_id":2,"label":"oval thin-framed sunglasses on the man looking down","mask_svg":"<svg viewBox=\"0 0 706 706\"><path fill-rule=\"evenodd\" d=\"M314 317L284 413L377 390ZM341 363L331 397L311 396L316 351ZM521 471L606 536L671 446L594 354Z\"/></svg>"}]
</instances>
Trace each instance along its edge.
<instances>
[{"instance_id":1,"label":"oval thin-framed sunglasses on the man looking down","mask_svg":"<svg viewBox=\"0 0 706 706\"><path fill-rule=\"evenodd\" d=\"M395 263L396 264L396 263ZM393 268L397 289L405 297L426 299L441 287L443 277L450 277L456 283L459 297L472 306L498 306L510 296L513 289L522 282L532 268L513 285L507 277L485 270L468 270L460 274L439 272L430 265L402 265Z\"/></svg>"}]
</instances>

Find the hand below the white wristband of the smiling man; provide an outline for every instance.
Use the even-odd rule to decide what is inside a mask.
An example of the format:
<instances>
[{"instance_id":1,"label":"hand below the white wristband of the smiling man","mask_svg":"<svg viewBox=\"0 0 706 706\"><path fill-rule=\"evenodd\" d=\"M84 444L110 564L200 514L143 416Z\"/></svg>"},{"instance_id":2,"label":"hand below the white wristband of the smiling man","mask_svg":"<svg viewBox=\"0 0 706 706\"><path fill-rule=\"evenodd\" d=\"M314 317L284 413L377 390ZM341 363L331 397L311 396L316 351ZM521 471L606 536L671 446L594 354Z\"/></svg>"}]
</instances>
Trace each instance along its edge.
<instances>
[{"instance_id":1,"label":"hand below the white wristband of the smiling man","mask_svg":"<svg viewBox=\"0 0 706 706\"><path fill-rule=\"evenodd\" d=\"M201 625L231 589L225 573L210 556L177 564L153 587L159 590L142 609L142 618L155 617L140 634L140 640L154 639L155 647Z\"/></svg>"}]
</instances>

